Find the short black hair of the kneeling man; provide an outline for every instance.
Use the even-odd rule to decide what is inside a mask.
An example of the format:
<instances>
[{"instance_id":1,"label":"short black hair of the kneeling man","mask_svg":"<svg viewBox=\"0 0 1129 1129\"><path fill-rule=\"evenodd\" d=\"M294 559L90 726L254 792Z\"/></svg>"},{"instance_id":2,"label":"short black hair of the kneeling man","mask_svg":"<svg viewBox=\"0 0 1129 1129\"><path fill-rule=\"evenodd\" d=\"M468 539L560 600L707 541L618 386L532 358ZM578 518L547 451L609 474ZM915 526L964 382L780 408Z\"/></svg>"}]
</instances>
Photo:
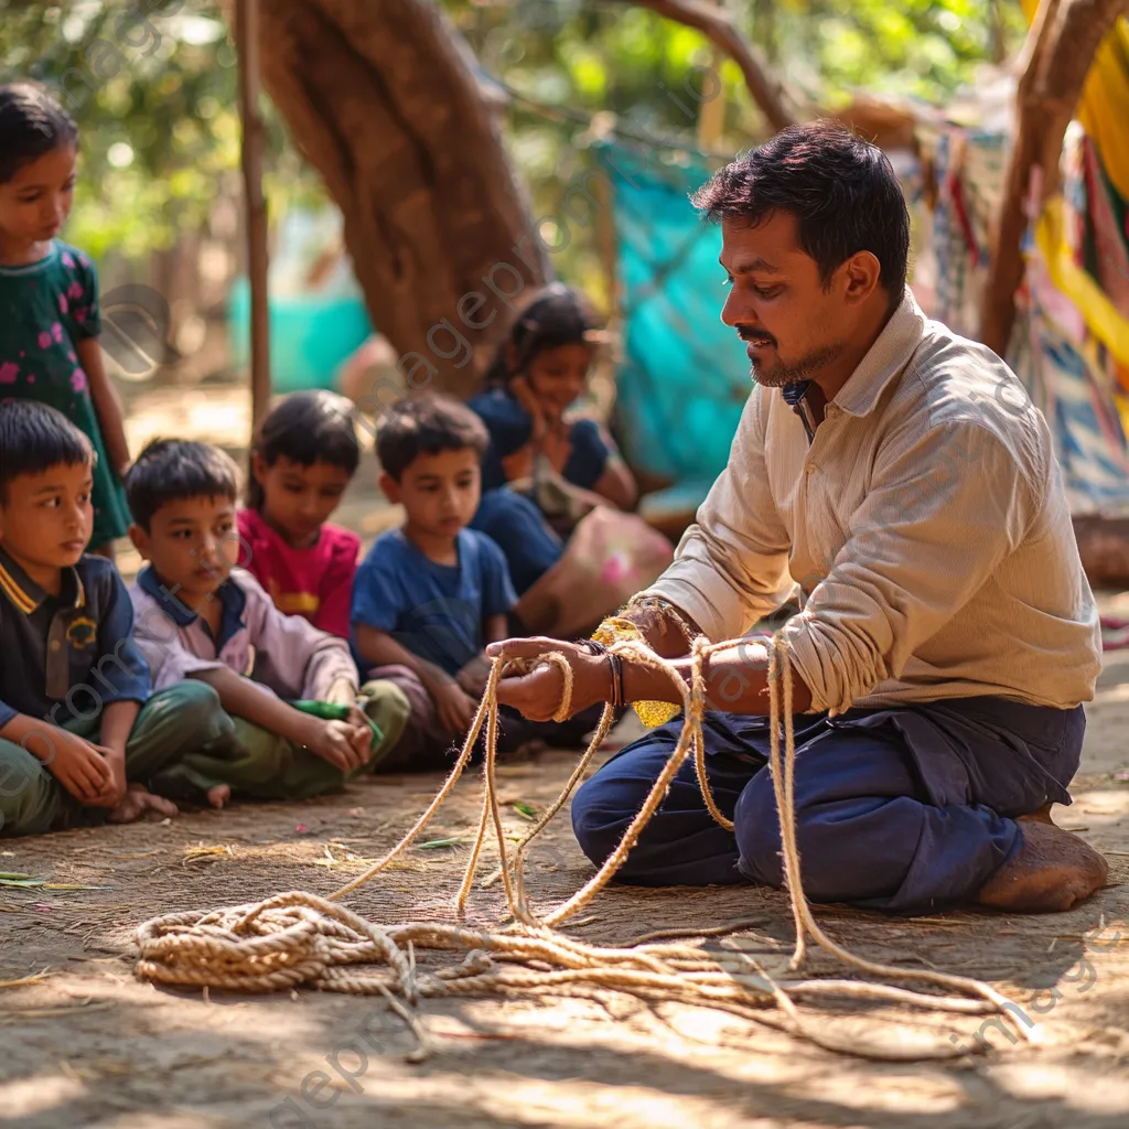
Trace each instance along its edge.
<instances>
[{"instance_id":1,"label":"short black hair of the kneeling man","mask_svg":"<svg viewBox=\"0 0 1129 1129\"><path fill-rule=\"evenodd\" d=\"M752 227L788 212L824 283L851 255L869 251L891 305L902 300L910 217L901 185L881 149L834 122L789 125L715 173L691 202L714 222Z\"/></svg>"}]
</instances>

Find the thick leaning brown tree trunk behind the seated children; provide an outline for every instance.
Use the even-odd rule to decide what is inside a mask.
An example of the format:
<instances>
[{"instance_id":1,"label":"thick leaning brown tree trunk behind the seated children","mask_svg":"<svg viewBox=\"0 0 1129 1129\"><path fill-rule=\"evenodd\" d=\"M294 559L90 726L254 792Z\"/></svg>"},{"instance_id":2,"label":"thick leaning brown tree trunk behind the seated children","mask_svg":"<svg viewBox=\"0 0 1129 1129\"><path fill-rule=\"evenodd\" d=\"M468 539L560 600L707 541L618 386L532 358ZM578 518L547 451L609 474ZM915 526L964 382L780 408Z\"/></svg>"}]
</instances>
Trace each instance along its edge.
<instances>
[{"instance_id":1,"label":"thick leaning brown tree trunk behind the seated children","mask_svg":"<svg viewBox=\"0 0 1129 1129\"><path fill-rule=\"evenodd\" d=\"M469 49L428 0L271 0L261 43L408 385L466 395L511 305L552 273Z\"/></svg>"}]
</instances>

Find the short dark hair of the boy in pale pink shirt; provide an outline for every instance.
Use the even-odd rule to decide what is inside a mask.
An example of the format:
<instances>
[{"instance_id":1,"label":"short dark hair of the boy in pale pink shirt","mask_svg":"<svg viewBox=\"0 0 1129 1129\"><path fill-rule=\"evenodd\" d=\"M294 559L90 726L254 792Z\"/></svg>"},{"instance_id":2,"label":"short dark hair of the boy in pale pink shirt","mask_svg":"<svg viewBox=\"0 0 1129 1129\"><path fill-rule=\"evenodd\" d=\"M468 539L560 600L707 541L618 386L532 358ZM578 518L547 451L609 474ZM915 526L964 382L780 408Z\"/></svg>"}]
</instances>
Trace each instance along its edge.
<instances>
[{"instance_id":1,"label":"short dark hair of the boy in pale pink shirt","mask_svg":"<svg viewBox=\"0 0 1129 1129\"><path fill-rule=\"evenodd\" d=\"M125 475L125 497L133 520L147 533L154 514L170 501L231 498L239 492L230 455L207 443L154 439Z\"/></svg>"}]
</instances>

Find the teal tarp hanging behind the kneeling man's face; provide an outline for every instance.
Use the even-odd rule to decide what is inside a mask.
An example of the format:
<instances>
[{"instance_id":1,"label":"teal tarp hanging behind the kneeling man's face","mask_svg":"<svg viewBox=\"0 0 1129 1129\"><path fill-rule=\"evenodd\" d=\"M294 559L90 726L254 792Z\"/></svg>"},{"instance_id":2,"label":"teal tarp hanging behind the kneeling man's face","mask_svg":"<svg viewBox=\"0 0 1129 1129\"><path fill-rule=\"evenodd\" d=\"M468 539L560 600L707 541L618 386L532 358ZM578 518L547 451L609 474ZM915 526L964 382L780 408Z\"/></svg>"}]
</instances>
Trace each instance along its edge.
<instances>
[{"instance_id":1,"label":"teal tarp hanging behind the kneeling man's face","mask_svg":"<svg viewBox=\"0 0 1129 1129\"><path fill-rule=\"evenodd\" d=\"M616 414L639 471L704 495L725 466L749 399L749 358L721 324L721 231L686 199L704 165L658 165L623 147L598 159L614 192L624 359ZM685 491L680 491L685 492Z\"/></svg>"}]
</instances>

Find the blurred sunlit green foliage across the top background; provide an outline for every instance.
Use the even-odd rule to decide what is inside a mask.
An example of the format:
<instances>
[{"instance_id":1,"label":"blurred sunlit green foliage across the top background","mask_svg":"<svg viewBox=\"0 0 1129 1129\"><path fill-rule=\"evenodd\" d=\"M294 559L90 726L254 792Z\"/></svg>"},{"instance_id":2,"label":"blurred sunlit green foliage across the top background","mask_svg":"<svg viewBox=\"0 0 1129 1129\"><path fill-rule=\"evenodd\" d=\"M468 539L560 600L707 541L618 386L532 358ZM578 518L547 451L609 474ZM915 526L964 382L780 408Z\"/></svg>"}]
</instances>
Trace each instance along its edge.
<instances>
[{"instance_id":1,"label":"blurred sunlit green foliage across the top background","mask_svg":"<svg viewBox=\"0 0 1129 1129\"><path fill-rule=\"evenodd\" d=\"M699 33L616 0L439 0L483 70L518 96L507 141L535 215L559 211L588 167L588 122L697 145L699 105L724 90L733 152L763 137L741 72ZM269 0L264 0L269 9ZM81 184L68 236L95 255L140 259L199 229L221 190L238 191L236 55L215 0L0 0L0 80L64 81L79 122ZM858 89L943 102L995 51L1021 41L1017 0L729 0L743 30L790 88L817 105ZM1001 32L994 11L999 12ZM324 199L268 105L266 189L278 212ZM593 227L576 230L558 270L603 294Z\"/></svg>"}]
</instances>

